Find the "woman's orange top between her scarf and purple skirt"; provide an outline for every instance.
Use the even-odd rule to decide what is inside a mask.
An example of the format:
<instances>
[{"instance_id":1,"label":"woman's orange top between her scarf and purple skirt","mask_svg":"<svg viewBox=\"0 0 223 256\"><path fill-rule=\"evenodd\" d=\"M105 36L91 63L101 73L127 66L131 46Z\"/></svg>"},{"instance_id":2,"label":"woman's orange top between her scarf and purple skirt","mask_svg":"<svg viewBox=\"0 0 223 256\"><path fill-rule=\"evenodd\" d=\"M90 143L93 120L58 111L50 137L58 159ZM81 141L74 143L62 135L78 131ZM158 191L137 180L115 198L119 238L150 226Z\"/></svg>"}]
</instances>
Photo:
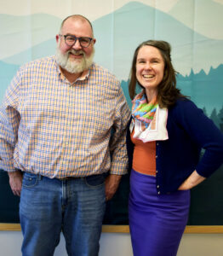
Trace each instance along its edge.
<instances>
[{"instance_id":1,"label":"woman's orange top between her scarf and purple skirt","mask_svg":"<svg viewBox=\"0 0 223 256\"><path fill-rule=\"evenodd\" d=\"M143 143L133 136L134 131L131 133L131 141L134 143L134 171L156 176L156 142Z\"/></svg>"}]
</instances>

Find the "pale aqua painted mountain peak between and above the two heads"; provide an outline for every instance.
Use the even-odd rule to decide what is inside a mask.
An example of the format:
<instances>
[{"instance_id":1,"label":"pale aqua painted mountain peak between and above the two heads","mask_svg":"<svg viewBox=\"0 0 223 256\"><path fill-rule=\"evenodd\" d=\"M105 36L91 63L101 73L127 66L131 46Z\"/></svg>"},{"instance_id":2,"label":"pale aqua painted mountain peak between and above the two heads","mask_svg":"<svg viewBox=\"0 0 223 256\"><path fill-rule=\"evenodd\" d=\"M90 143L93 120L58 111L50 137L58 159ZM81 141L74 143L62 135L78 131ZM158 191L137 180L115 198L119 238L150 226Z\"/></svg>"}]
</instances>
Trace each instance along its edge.
<instances>
[{"instance_id":1,"label":"pale aqua painted mountain peak between and above the two heads","mask_svg":"<svg viewBox=\"0 0 223 256\"><path fill-rule=\"evenodd\" d=\"M208 73L210 67L218 67L223 60L223 40L207 38L171 15L142 3L128 3L95 20L94 32L99 38L98 62L119 79L128 78L134 49L147 39L168 41L172 45L174 67L184 75L189 74L191 68L195 73L201 69Z\"/></svg>"}]
</instances>

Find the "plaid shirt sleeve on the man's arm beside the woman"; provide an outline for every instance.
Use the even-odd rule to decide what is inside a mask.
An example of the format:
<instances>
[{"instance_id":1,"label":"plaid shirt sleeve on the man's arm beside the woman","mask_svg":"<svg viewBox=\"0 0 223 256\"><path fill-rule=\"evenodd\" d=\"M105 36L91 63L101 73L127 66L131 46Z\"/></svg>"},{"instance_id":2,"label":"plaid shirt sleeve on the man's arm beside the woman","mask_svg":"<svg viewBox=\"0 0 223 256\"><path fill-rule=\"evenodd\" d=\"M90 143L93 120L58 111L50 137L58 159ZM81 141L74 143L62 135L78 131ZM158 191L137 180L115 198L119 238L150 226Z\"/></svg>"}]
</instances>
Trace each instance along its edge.
<instances>
[{"instance_id":1,"label":"plaid shirt sleeve on the man's arm beside the woman","mask_svg":"<svg viewBox=\"0 0 223 256\"><path fill-rule=\"evenodd\" d=\"M117 96L114 134L111 137L111 174L123 175L128 169L126 130L130 118L129 106L120 87Z\"/></svg>"}]
</instances>

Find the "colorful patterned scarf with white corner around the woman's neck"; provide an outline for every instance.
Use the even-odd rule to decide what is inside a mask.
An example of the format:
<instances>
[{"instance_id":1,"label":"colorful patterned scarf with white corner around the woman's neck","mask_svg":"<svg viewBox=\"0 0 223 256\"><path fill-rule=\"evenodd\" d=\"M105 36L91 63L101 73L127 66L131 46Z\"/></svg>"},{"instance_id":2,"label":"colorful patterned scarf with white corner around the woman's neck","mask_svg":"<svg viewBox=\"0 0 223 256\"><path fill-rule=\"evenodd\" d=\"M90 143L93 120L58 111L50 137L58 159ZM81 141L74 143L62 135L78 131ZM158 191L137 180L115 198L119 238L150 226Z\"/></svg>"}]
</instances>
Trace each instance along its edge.
<instances>
[{"instance_id":1,"label":"colorful patterned scarf with white corner around the woman's neck","mask_svg":"<svg viewBox=\"0 0 223 256\"><path fill-rule=\"evenodd\" d=\"M169 138L166 129L168 109L159 108L157 97L147 102L145 90L142 90L134 97L132 116L130 131L134 129L134 138L144 143Z\"/></svg>"}]
</instances>

